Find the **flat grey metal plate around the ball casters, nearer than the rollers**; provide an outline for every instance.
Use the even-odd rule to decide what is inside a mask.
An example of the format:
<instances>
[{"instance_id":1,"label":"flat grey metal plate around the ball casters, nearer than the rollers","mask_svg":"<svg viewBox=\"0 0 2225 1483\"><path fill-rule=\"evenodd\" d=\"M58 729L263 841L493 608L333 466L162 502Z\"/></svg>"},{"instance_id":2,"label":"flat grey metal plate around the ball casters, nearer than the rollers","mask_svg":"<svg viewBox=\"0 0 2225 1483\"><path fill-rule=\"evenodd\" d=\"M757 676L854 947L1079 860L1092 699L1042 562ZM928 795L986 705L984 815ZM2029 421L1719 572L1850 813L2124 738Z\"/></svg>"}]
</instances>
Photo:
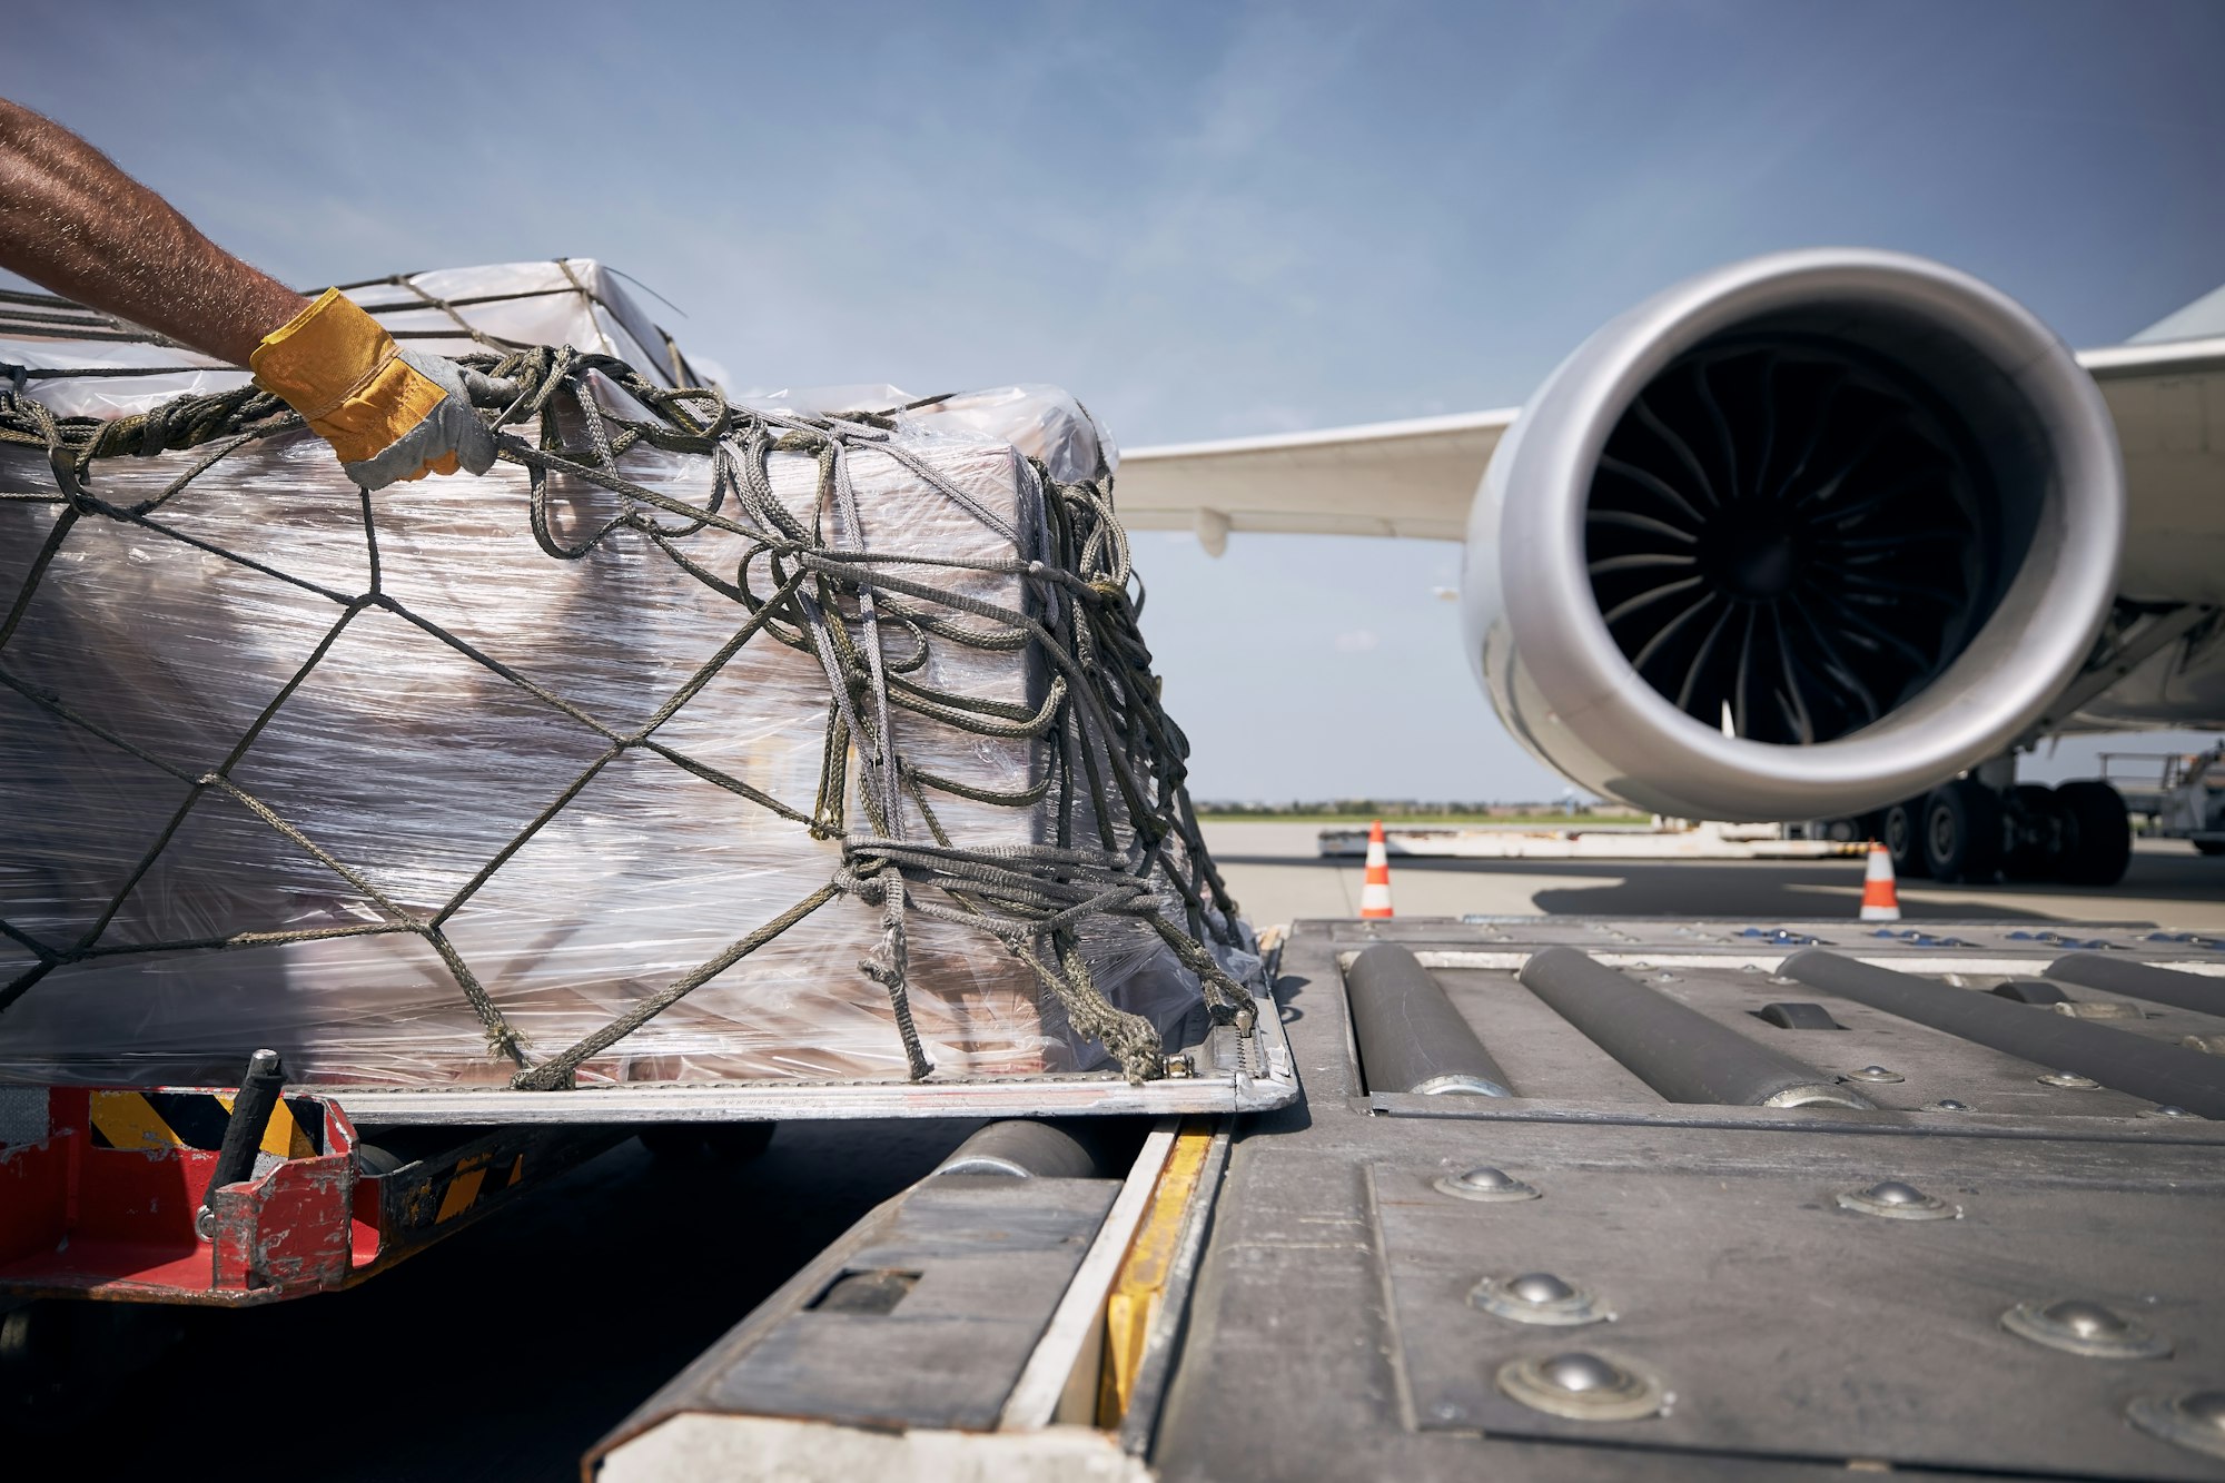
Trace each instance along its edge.
<instances>
[{"instance_id":1,"label":"flat grey metal plate around the ball casters, nearer than the rollers","mask_svg":"<svg viewBox=\"0 0 2225 1483\"><path fill-rule=\"evenodd\" d=\"M1896 1463L1934 1467L2216 1476L2207 1459L2127 1432L2125 1405L2156 1387L2158 1363L2049 1352L2000 1316L2085 1298L2176 1347L2214 1343L2225 1334L2218 1149L2152 1149L2127 1171L2118 1151L2089 1145L2034 1176L2023 1145L1918 1136L1813 1149L1760 1129L1682 1131L1682 1167L1660 1171L1649 1153L1667 1149L1631 1129L1555 1133L1502 1156L1540 1189L1515 1205L1440 1194L1437 1167L1371 1167L1420 1427L1638 1432L1649 1447L1840 1463L1889 1441ZM1584 1165L1620 1153L1622 1167L1573 1167L1578 1149ZM1880 1178L1936 1191L1962 1216L1880 1220L1833 1202ZM2189 1220L2189 1202L2207 1218ZM1537 1269L1595 1289L1615 1320L1549 1329L1468 1303L1484 1274ZM1493 1383L1506 1361L1571 1349L1655 1374L1664 1414L1569 1421Z\"/></svg>"}]
</instances>

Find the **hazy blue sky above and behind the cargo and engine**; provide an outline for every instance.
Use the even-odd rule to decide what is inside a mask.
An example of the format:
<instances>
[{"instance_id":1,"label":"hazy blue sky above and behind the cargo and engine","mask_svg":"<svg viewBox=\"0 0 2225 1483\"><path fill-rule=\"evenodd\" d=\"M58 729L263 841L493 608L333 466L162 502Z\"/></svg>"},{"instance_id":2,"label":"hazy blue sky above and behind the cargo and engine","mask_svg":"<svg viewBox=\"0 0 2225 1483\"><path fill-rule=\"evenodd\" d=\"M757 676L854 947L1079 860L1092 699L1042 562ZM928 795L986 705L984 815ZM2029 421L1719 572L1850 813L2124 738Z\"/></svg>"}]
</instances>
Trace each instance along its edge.
<instances>
[{"instance_id":1,"label":"hazy blue sky above and behind the cargo and engine","mask_svg":"<svg viewBox=\"0 0 2225 1483\"><path fill-rule=\"evenodd\" d=\"M596 256L736 383L1059 381L1139 445L1520 403L1796 245L2118 341L2225 283L2221 58L2225 7L2154 0L11 0L0 94L298 285ZM1451 546L1139 557L1202 795L1558 793Z\"/></svg>"}]
</instances>

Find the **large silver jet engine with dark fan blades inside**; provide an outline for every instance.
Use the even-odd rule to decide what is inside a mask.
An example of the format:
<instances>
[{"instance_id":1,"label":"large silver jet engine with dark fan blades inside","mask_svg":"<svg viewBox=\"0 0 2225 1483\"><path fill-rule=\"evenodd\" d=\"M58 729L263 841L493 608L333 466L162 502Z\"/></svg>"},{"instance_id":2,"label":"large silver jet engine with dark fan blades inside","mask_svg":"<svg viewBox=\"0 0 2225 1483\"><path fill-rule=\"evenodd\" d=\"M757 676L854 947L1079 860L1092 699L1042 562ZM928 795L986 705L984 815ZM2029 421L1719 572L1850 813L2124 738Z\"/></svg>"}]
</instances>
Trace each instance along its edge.
<instances>
[{"instance_id":1,"label":"large silver jet engine with dark fan blades inside","mask_svg":"<svg viewBox=\"0 0 2225 1483\"><path fill-rule=\"evenodd\" d=\"M1722 267L1584 341L1468 514L1468 659L1600 793L1813 819L2000 755L2087 659L2125 477L2094 379L1925 258Z\"/></svg>"}]
</instances>

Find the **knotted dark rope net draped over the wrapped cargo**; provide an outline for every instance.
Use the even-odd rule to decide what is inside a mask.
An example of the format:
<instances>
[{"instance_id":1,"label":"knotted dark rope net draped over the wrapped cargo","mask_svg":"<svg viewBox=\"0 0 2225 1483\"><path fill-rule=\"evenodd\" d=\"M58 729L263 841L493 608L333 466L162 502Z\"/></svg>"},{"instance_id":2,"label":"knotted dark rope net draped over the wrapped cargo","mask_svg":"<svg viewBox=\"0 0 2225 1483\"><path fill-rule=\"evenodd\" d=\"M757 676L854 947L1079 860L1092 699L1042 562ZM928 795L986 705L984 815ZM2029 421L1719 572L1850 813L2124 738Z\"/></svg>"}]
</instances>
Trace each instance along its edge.
<instances>
[{"instance_id":1,"label":"knotted dark rope net draped over the wrapped cargo","mask_svg":"<svg viewBox=\"0 0 2225 1483\"><path fill-rule=\"evenodd\" d=\"M485 338L485 336L478 336ZM843 528L859 530L857 494L848 461L861 448L906 463L941 499L968 510L992 528L1003 521L966 490L941 479L934 468L892 439L897 419L930 403L886 412L801 414L732 405L716 390L665 387L625 361L574 347L505 347L494 354L458 356L481 416L498 430L501 459L527 470L530 526L541 550L554 561L581 561L616 532L645 537L674 568L730 599L741 623L716 652L696 668L645 724L619 728L587 715L552 688L534 681L463 637L412 612L380 588L378 497L358 490L363 546L369 581L358 592L332 590L289 577L247 554L222 550L162 519L165 505L196 479L220 468L227 456L263 439L300 430L300 419L278 399L243 385L218 394L189 394L149 412L118 419L56 416L24 394L31 376L85 372L13 372L0 381L0 443L44 450L53 470L53 492L4 494L13 501L60 505L51 532L29 566L11 608L0 615L0 684L122 748L151 768L187 784L185 802L154 839L122 888L89 933L76 942L44 942L18 924L0 920L0 933L36 960L0 986L0 1011L20 1000L40 978L93 957L122 953L176 953L185 949L229 951L314 937L414 933L429 944L454 978L456 989L485 1024L492 1053L507 1058L516 1089L556 1091L576 1084L578 1067L634 1033L756 949L777 940L839 895L852 895L879 911L877 951L859 969L888 991L894 1029L903 1040L910 1076L932 1071L912 1022L908 1000L906 922L937 917L995 940L1024 962L1086 1040L1097 1040L1128 1080L1168 1073L1159 1031L1150 1020L1117 1009L1092 982L1081 953L1081 929L1106 917L1141 922L1197 975L1204 1004L1215 1022L1253 1027L1250 993L1224 971L1208 944L1242 949L1237 906L1206 855L1197 819L1184 790L1188 744L1159 704L1150 655L1137 628L1141 586L1133 581L1128 539L1112 514L1112 477L1099 459L1097 477L1055 483L1044 463L1030 459L1044 497L1041 559L952 561L930 554L843 550L823 534L823 514L834 510ZM9 372L0 367L0 376ZM93 372L102 374L102 372ZM122 374L122 372L105 372ZM145 372L131 372L145 374ZM643 414L619 412L596 394L592 379L605 381ZM610 399L621 401L621 399ZM518 432L538 436L527 441ZM710 488L701 501L647 488L619 472L627 450L654 448L696 454L708 461ZM136 503L100 497L102 461L205 450L202 456ZM803 523L768 479L772 454L805 454L819 465L821 519ZM550 519L550 477L565 474L605 490L616 514L585 539L567 543ZM265 577L294 583L329 599L336 608L325 641L285 684L276 699L245 728L229 755L211 770L174 766L134 739L87 719L51 690L22 679L7 666L7 644L24 619L40 579L82 521L125 521L165 541L185 541L207 557L243 563ZM745 539L739 570L710 570L688 550L690 537L719 530ZM1008 608L937 586L937 572L970 568L1021 579L1030 601ZM392 900L367 873L327 853L269 802L234 779L234 770L256 737L316 670L347 626L363 612L385 610L423 630L456 655L485 666L518 693L592 728L603 744L576 777L563 786L516 837L498 848L436 911L412 911ZM961 615L961 617L952 617ZM975 650L1035 650L1046 666L1048 688L1039 708L986 701L921 681L928 635ZM828 681L825 753L819 793L810 811L772 797L659 739L665 726L728 666L745 644L785 644L817 659ZM892 742L892 713L910 710L979 737L1026 737L1048 753L1041 779L1021 790L986 790L914 766ZM530 1058L521 1033L505 1020L481 975L456 951L443 924L472 900L523 848L570 806L607 764L625 753L654 753L699 779L725 788L750 804L799 824L817 839L841 842L841 864L832 880L792 906L736 937L725 951L674 978L625 1013L576 1044L545 1058ZM857 757L857 795L863 826L848 817L850 757ZM1035 808L1046 802L1048 844L961 848L937 817L930 795L950 793L977 804ZM109 944L100 940L134 884L171 844L191 811L211 795L227 795L296 848L312 855L349 888L376 904L383 920L298 931L234 931L198 940ZM1126 831L1121 828L1126 824ZM1108 848L1121 842L1126 848ZM1044 837L1044 835L1037 835ZM1170 886L1170 891L1166 891ZM1179 911L1170 904L1179 902ZM1168 920L1168 911L1184 917Z\"/></svg>"}]
</instances>

